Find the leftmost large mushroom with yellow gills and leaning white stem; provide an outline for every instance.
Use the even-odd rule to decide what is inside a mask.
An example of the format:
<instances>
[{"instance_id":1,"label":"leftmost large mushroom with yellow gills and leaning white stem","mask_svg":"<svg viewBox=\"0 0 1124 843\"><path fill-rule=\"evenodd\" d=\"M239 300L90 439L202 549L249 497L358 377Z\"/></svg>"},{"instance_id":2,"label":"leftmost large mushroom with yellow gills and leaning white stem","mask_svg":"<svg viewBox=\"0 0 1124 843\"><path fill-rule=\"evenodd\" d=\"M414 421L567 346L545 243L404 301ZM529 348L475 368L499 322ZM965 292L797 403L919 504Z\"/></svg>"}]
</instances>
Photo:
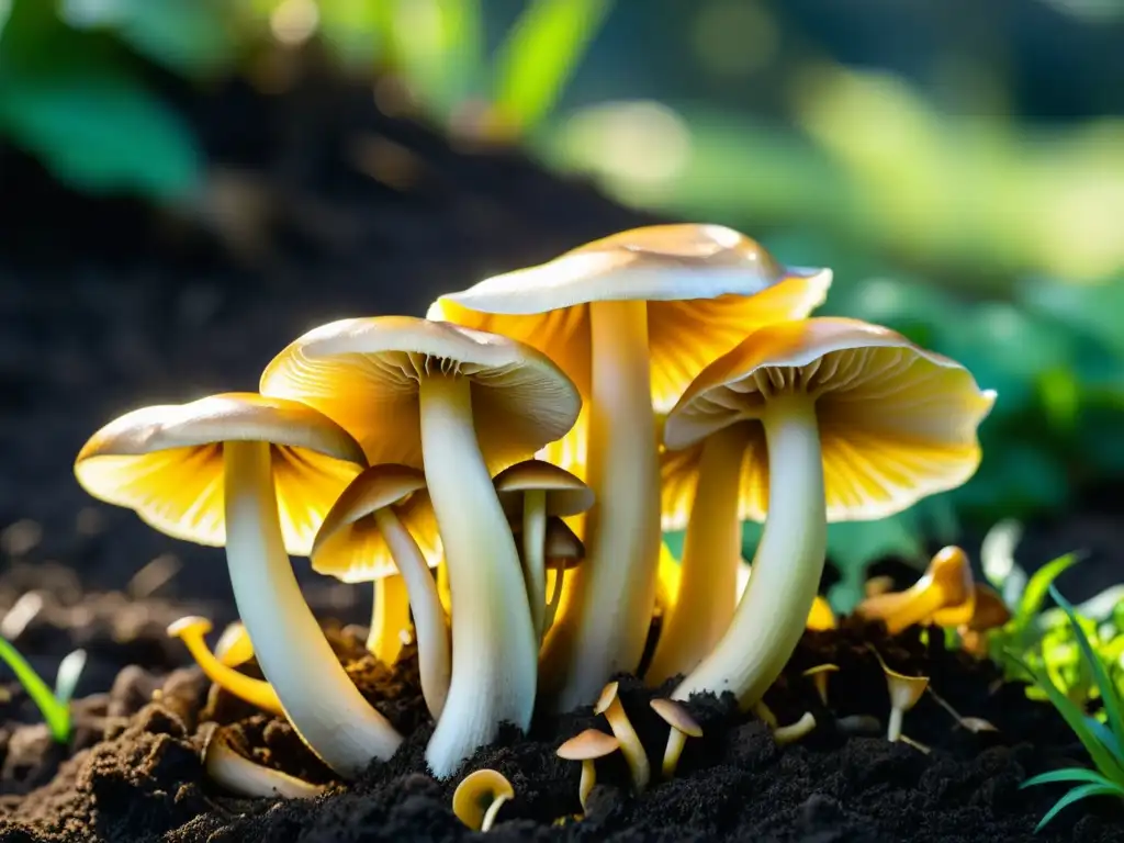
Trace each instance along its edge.
<instances>
[{"instance_id":1,"label":"leftmost large mushroom with yellow gills and leaning white stem","mask_svg":"<svg viewBox=\"0 0 1124 843\"><path fill-rule=\"evenodd\" d=\"M96 498L176 538L226 545L242 623L301 738L350 777L401 743L359 692L300 592L325 513L365 465L359 444L298 401L229 392L146 407L96 433L74 473Z\"/></svg>"}]
</instances>

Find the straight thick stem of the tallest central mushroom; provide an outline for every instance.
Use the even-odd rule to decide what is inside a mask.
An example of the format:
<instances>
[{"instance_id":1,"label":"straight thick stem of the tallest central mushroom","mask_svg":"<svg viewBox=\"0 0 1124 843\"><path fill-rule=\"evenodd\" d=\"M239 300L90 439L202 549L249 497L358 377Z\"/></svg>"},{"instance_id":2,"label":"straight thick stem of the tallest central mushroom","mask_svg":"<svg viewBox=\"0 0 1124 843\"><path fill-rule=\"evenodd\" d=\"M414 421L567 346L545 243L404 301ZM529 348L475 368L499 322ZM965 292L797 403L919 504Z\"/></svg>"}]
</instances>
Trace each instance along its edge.
<instances>
[{"instance_id":1,"label":"straight thick stem of the tallest central mushroom","mask_svg":"<svg viewBox=\"0 0 1124 843\"><path fill-rule=\"evenodd\" d=\"M597 699L618 671L640 664L655 607L660 464L652 410L647 305L589 305L591 400L586 559L572 599L546 640L544 677L555 710Z\"/></svg>"}]
</instances>

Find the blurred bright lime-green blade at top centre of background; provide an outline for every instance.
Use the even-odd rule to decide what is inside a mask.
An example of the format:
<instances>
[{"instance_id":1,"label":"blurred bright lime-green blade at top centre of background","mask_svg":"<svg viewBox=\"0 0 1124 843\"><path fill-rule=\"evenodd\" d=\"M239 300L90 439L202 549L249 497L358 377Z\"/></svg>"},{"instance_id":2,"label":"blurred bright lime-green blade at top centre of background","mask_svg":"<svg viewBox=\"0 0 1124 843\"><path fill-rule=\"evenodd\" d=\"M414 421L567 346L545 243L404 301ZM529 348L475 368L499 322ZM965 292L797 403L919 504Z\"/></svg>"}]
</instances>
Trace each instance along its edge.
<instances>
[{"instance_id":1,"label":"blurred bright lime-green blade at top centre of background","mask_svg":"<svg viewBox=\"0 0 1124 843\"><path fill-rule=\"evenodd\" d=\"M545 117L601 26L609 0L532 0L496 55L497 111L520 132Z\"/></svg>"}]
</instances>

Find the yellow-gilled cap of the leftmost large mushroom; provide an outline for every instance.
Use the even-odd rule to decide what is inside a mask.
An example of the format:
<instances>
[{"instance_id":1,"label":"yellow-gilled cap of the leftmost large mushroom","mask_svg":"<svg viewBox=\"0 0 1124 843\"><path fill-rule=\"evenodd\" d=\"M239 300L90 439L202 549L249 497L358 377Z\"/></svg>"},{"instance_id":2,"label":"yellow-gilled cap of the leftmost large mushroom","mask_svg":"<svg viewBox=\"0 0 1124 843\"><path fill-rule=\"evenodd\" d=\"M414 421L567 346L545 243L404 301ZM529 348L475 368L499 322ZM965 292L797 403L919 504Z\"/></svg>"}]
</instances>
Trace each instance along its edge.
<instances>
[{"instance_id":1,"label":"yellow-gilled cap of the leftmost large mushroom","mask_svg":"<svg viewBox=\"0 0 1124 843\"><path fill-rule=\"evenodd\" d=\"M221 546L224 442L272 445L281 533L296 555L308 555L328 508L366 465L355 439L311 407L227 392L125 414L83 445L74 474L94 498L161 533Z\"/></svg>"}]
</instances>

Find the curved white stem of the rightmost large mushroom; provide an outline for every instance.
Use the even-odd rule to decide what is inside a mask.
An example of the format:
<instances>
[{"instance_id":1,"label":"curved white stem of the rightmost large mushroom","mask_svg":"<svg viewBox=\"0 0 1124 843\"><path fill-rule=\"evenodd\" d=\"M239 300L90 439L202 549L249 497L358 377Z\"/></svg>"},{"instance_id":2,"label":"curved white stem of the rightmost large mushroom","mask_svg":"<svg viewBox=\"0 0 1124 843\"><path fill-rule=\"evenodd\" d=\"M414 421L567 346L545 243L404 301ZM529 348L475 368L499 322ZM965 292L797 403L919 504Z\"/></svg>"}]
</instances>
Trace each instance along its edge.
<instances>
[{"instance_id":1,"label":"curved white stem of the rightmost large mushroom","mask_svg":"<svg viewBox=\"0 0 1124 843\"><path fill-rule=\"evenodd\" d=\"M753 575L722 641L672 695L732 691L758 703L796 649L824 570L827 513L815 404L770 399L762 411L769 448L769 515Z\"/></svg>"}]
</instances>

